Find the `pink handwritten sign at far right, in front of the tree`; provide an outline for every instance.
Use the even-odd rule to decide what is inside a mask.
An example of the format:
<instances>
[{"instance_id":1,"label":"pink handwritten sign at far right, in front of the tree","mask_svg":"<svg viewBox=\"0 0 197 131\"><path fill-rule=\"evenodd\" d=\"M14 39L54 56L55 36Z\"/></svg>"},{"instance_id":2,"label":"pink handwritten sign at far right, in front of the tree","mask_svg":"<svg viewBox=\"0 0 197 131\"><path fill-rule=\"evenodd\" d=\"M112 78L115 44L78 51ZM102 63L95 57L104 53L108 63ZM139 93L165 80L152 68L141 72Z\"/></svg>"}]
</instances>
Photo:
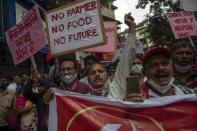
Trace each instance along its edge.
<instances>
[{"instance_id":1,"label":"pink handwritten sign at far right, in front of the tree","mask_svg":"<svg viewBox=\"0 0 197 131\"><path fill-rule=\"evenodd\" d=\"M197 35L197 22L193 12L167 13L176 39Z\"/></svg>"}]
</instances>

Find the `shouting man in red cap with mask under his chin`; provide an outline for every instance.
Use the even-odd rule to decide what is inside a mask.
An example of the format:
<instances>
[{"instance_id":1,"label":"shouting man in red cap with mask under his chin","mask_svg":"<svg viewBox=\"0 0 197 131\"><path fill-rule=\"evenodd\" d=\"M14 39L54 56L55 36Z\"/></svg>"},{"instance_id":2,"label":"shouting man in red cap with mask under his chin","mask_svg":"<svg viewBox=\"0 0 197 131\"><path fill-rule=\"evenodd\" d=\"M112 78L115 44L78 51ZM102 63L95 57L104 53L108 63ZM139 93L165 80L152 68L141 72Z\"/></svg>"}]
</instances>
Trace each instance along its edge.
<instances>
[{"instance_id":1,"label":"shouting man in red cap with mask under his chin","mask_svg":"<svg viewBox=\"0 0 197 131\"><path fill-rule=\"evenodd\" d=\"M141 86L141 94L127 94L124 100L141 102L148 98L192 94L190 88L175 80L171 57L167 48L153 47L148 50L141 60L147 77Z\"/></svg>"}]
</instances>

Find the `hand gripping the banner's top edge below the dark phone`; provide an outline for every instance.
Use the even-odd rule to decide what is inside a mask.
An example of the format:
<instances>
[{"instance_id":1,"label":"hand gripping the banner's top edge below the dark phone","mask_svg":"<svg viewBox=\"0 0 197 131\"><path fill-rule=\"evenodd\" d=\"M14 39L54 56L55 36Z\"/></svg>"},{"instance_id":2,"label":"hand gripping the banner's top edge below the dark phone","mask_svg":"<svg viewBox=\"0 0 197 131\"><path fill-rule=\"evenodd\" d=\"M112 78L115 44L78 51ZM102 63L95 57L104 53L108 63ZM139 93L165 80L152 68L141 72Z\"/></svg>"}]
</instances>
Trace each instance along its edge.
<instances>
[{"instance_id":1,"label":"hand gripping the banner's top edge below the dark phone","mask_svg":"<svg viewBox=\"0 0 197 131\"><path fill-rule=\"evenodd\" d=\"M129 102L144 102L142 95L136 94L136 93L131 93L131 94L126 95L126 97L123 100L129 101Z\"/></svg>"}]
</instances>

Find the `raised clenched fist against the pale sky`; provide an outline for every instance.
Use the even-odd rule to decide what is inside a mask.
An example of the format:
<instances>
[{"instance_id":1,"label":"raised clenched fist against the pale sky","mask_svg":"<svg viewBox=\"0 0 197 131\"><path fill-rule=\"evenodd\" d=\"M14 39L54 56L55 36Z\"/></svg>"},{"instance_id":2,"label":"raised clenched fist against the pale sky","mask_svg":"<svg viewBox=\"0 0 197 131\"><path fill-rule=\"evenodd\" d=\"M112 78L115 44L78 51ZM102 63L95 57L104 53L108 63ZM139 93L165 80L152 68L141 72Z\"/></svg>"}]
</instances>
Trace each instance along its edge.
<instances>
[{"instance_id":1,"label":"raised clenched fist against the pale sky","mask_svg":"<svg viewBox=\"0 0 197 131\"><path fill-rule=\"evenodd\" d=\"M124 23L129 26L129 33L135 34L136 24L134 18L131 16L131 13L125 14Z\"/></svg>"}]
</instances>

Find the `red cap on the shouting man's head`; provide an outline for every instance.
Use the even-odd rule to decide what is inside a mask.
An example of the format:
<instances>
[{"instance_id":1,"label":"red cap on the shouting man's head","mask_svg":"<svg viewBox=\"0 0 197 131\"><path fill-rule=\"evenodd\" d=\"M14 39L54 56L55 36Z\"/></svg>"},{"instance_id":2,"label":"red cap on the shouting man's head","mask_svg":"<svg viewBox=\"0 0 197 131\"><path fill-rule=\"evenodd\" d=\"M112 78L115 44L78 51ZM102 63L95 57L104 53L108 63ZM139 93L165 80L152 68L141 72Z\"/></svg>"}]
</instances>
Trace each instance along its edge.
<instances>
[{"instance_id":1,"label":"red cap on the shouting man's head","mask_svg":"<svg viewBox=\"0 0 197 131\"><path fill-rule=\"evenodd\" d=\"M162 53L169 58L172 57L172 53L169 49L164 48L164 47L152 47L142 56L142 59L141 59L142 66L144 66L148 57L150 57L152 54L157 54L157 53Z\"/></svg>"}]
</instances>

